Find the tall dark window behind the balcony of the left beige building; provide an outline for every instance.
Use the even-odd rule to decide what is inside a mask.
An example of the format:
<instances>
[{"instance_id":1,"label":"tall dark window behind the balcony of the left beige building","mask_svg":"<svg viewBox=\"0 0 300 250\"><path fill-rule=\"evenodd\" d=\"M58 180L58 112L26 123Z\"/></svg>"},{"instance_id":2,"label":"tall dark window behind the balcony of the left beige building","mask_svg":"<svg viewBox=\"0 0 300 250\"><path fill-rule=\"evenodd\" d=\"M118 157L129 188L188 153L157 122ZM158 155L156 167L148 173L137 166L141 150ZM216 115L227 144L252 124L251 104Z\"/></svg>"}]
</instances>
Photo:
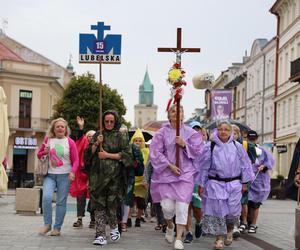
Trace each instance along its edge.
<instances>
[{"instance_id":1,"label":"tall dark window behind the balcony of the left beige building","mask_svg":"<svg viewBox=\"0 0 300 250\"><path fill-rule=\"evenodd\" d=\"M32 91L19 92L19 127L31 128L31 100Z\"/></svg>"}]
</instances>

